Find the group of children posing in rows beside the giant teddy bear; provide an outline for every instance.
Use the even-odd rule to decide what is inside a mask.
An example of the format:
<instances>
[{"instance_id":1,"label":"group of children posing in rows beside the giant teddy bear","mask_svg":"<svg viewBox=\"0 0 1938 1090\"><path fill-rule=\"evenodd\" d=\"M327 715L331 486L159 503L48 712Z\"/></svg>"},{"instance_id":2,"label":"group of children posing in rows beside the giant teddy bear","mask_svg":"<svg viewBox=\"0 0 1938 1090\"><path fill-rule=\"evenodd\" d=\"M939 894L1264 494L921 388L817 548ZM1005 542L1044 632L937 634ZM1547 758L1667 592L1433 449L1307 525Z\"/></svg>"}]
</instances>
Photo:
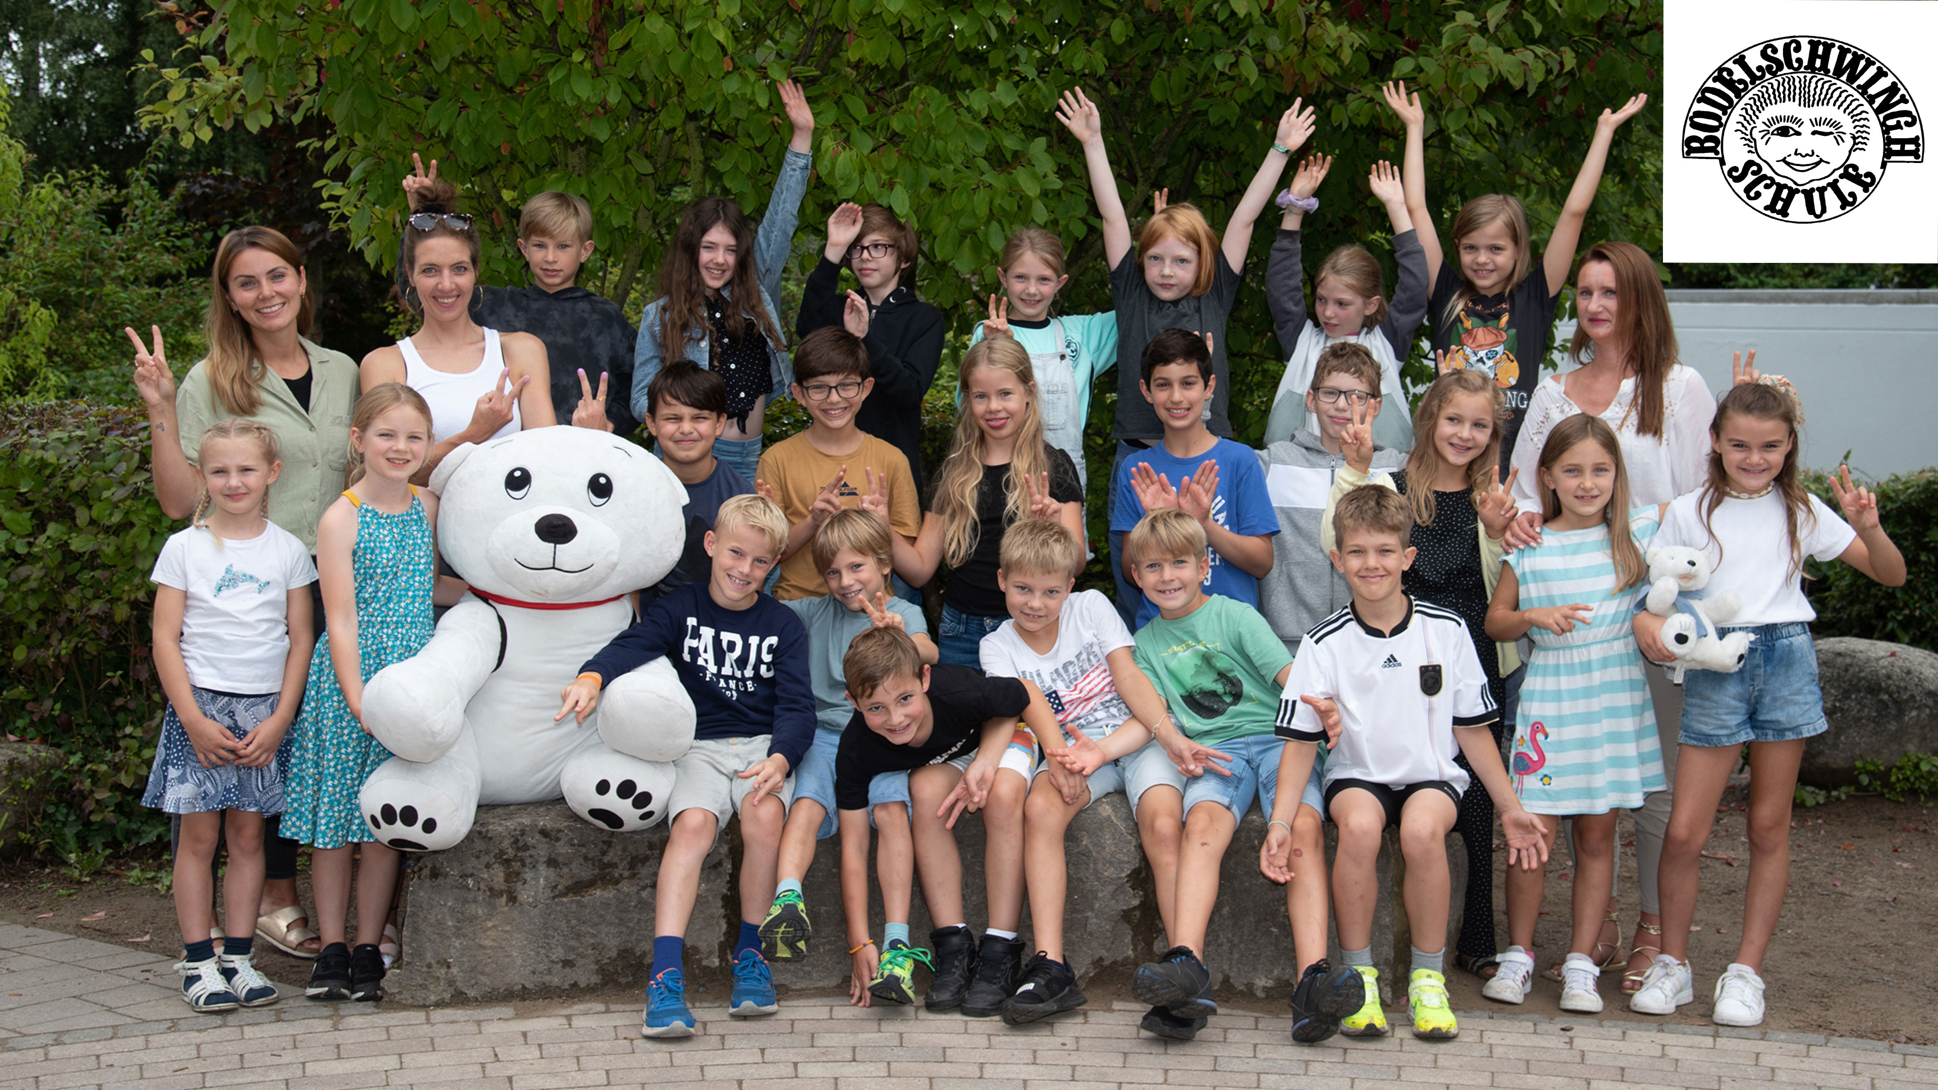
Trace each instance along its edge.
<instances>
[{"instance_id":1,"label":"group of children posing in rows beside the giant teddy bear","mask_svg":"<svg viewBox=\"0 0 1938 1090\"><path fill-rule=\"evenodd\" d=\"M806 111L787 101L791 116ZM1252 219L1312 132L1312 112L1297 105L1223 244L1190 206L1161 204L1132 248L1097 111L1081 93L1066 95L1060 118L1085 147L1118 310L1052 314L1068 279L1062 246L1045 231L1017 231L1000 270L1006 301L990 301L961 361L961 413L926 502L907 409L934 374L940 316L930 320L913 297L913 231L886 209L837 209L810 283L820 291L787 347L767 279L785 258L777 240L793 235L806 151L789 149L758 235L731 202L688 211L669 270L690 268L663 277L667 297L641 322L632 376L632 403L659 458L688 487L688 553L665 584L641 588L630 630L576 679L560 679L558 710L583 720L607 683L661 656L696 706L655 884L647 1036L694 1032L684 933L700 867L735 817L733 1016L777 1010L769 960L808 950L812 915L826 910L806 904L802 881L818 840L837 832L853 1003L913 1003L924 966L921 997L932 1010L1023 1024L1083 1005L1064 956L1064 832L1110 791L1124 791L1136 813L1169 945L1134 978L1151 1003L1147 1032L1190 1040L1217 1012L1207 927L1223 855L1254 801L1267 817L1260 871L1287 886L1295 1040L1388 1030L1370 956L1386 828L1399 830L1405 855L1413 1032L1457 1034L1444 983L1444 838L1459 832L1469 846L1463 945L1467 929L1485 933L1485 950L1463 964L1492 962L1490 896L1483 912L1473 896L1490 890L1496 811L1516 946L1498 960L1488 997L1527 991L1541 869L1556 818L1572 817L1581 881L1562 1005L1601 1010L1589 952L1609 896L1614 817L1665 787L1643 656L1671 656L1655 636L1659 619L1636 609L1651 541L1713 551L1717 584L1744 599L1736 625L1756 642L1740 673L1690 675L1682 789L1663 855L1665 948L1632 1007L1671 1012L1690 1001L1696 857L1748 741L1758 776L1750 914L1715 1016L1762 1018L1756 966L1783 894L1767 848L1785 834L1771 815L1781 795L1787 818L1800 739L1824 729L1800 559L1841 557L1888 584L1903 580L1903 561L1878 528L1874 497L1849 477L1835 485L1843 518L1802 491L1798 409L1762 382L1723 400L1707 485L1665 510L1630 510L1607 425L1583 415L1552 429L1537 471L1543 537L1508 551L1502 539L1519 512L1498 467L1512 442L1512 394L1539 372L1609 140L1641 103L1603 114L1537 266L1514 198L1471 202L1454 225L1457 260L1440 260L1419 101L1401 87L1388 101L1407 128L1405 165L1380 163L1370 186L1391 219L1399 287L1388 305L1378 262L1347 246L1320 266L1308 312L1298 227L1329 161L1306 159L1281 194L1287 211L1267 268L1289 363L1267 431L1275 442L1264 452L1219 434L1229 433L1219 429L1229 388L1221 341ZM537 270L541 258L531 260ZM545 260L556 254L547 248ZM835 293L843 264L862 291ZM1446 349L1442 374L1409 415L1397 361L1428 310ZM682 337L686 351L672 349ZM1155 427L1122 425L1120 415L1109 524L1112 543L1122 535L1112 551L1122 582L1112 603L1078 592L1076 576L1089 553L1087 396L1118 355L1134 359L1124 388ZM762 450L760 413L783 390L810 425ZM316 848L324 954L310 995L372 999L380 989L374 929L395 881L395 853L380 844L362 842L359 945L343 935L349 846L362 840L357 787L388 756L359 727L359 696L376 669L422 646L432 599L461 593L436 574L436 497L409 483L430 436L430 409L403 384L378 384L357 403L351 487L318 535L331 619L320 644L302 592L318 572L262 516L277 471L273 434L211 429L203 438L203 508L155 570L171 712L149 782L151 805L184 815L176 902L192 1007L273 1001L248 939L213 952L207 871L225 834L231 915L248 917L250 822L277 811L285 830ZM930 638L907 588L938 568L948 582ZM1523 636L1533 640L1525 681ZM733 671L713 640L758 644L771 663L754 677ZM1504 716L1516 689L1517 710ZM291 710L298 694L300 718ZM1516 739L1512 766L1504 731ZM953 838L971 811L986 832L981 935L965 915ZM1339 836L1331 873L1328 820ZM880 935L868 925L876 832ZM926 945L909 933L917 881L934 923ZM1033 943L1019 937L1025 900ZM1339 966L1326 958L1329 921Z\"/></svg>"}]
</instances>

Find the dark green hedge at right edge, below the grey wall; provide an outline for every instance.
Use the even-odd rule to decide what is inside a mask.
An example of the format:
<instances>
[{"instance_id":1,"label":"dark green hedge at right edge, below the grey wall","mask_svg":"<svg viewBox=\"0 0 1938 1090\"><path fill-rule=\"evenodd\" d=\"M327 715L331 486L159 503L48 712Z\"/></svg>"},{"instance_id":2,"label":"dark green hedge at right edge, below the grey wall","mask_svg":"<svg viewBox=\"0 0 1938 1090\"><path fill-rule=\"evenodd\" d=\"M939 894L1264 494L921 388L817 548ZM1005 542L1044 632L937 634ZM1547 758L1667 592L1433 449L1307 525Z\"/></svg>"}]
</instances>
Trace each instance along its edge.
<instances>
[{"instance_id":1,"label":"dark green hedge at right edge, below the grey wall","mask_svg":"<svg viewBox=\"0 0 1938 1090\"><path fill-rule=\"evenodd\" d=\"M1810 473L1804 485L1837 510L1829 479ZM1890 640L1938 652L1938 469L1897 473L1876 481L1884 531L1905 555L1911 578L1901 588L1872 582L1857 568L1831 561L1808 561L1804 593L1818 611L1816 634Z\"/></svg>"}]
</instances>

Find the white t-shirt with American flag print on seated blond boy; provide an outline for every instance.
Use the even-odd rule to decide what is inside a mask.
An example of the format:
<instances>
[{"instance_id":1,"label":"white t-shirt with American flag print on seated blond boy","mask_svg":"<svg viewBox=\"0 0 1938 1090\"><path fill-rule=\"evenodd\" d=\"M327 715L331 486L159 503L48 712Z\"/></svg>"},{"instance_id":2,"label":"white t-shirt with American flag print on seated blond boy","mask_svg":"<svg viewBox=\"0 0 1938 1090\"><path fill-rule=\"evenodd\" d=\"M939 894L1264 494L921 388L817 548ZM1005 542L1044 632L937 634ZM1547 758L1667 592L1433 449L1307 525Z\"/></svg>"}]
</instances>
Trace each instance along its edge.
<instances>
[{"instance_id":1,"label":"white t-shirt with American flag print on seated blond boy","mask_svg":"<svg viewBox=\"0 0 1938 1090\"><path fill-rule=\"evenodd\" d=\"M1130 706L1110 681L1105 657L1134 646L1130 628L1103 592L1083 590L1064 601L1056 619L1056 646L1039 656L1016 630L1016 621L983 636L983 671L990 677L1033 681L1056 712L1066 733L1101 739L1130 718Z\"/></svg>"}]
</instances>

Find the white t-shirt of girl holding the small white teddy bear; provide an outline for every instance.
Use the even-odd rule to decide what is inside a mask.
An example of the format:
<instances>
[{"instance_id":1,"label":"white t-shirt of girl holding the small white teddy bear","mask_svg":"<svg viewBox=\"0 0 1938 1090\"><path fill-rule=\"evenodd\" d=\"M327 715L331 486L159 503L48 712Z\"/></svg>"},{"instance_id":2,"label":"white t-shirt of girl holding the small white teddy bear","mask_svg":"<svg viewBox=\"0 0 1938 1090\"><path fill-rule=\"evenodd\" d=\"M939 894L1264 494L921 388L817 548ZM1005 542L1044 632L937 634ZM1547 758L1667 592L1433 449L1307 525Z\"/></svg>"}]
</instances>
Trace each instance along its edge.
<instances>
[{"instance_id":1,"label":"white t-shirt of girl holding the small white teddy bear","mask_svg":"<svg viewBox=\"0 0 1938 1090\"><path fill-rule=\"evenodd\" d=\"M1688 545L1709 557L1711 574L1704 597L1736 592L1742 599L1742 609L1729 619L1731 626L1816 621L1816 609L1804 597L1802 572L1791 566L1783 497L1775 491L1754 500L1725 497L1704 528L1707 493L1709 489L1696 489L1676 497L1663 516L1655 545ZM1802 535L1802 555L1818 561L1835 561L1857 539L1851 524L1816 497L1810 497L1810 514L1798 516L1797 533Z\"/></svg>"}]
</instances>

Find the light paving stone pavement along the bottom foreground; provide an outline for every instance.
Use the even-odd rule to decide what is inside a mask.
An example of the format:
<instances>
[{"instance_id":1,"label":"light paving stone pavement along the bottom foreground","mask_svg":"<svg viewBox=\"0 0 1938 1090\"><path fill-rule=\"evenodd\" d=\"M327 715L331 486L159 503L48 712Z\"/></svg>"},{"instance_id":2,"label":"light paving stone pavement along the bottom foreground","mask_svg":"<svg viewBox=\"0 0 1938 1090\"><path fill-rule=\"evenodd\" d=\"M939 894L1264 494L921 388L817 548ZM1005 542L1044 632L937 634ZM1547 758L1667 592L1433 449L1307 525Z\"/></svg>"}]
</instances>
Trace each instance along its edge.
<instances>
[{"instance_id":1,"label":"light paving stone pavement along the bottom foreground","mask_svg":"<svg viewBox=\"0 0 1938 1090\"><path fill-rule=\"evenodd\" d=\"M684 1042L641 1040L640 1007L605 1003L422 1010L297 993L258 1010L192 1014L155 952L0 923L0 1090L1938 1086L1938 1047L1498 1012L1461 1012L1457 1042L1417 1042L1401 1024L1395 1038L1314 1047L1291 1042L1287 1018L1252 1012L1219 1014L1190 1043L1140 1038L1140 1010L1122 1003L1019 1030L839 999L783 1003L756 1020L717 1007L698 1014L700 1036Z\"/></svg>"}]
</instances>

